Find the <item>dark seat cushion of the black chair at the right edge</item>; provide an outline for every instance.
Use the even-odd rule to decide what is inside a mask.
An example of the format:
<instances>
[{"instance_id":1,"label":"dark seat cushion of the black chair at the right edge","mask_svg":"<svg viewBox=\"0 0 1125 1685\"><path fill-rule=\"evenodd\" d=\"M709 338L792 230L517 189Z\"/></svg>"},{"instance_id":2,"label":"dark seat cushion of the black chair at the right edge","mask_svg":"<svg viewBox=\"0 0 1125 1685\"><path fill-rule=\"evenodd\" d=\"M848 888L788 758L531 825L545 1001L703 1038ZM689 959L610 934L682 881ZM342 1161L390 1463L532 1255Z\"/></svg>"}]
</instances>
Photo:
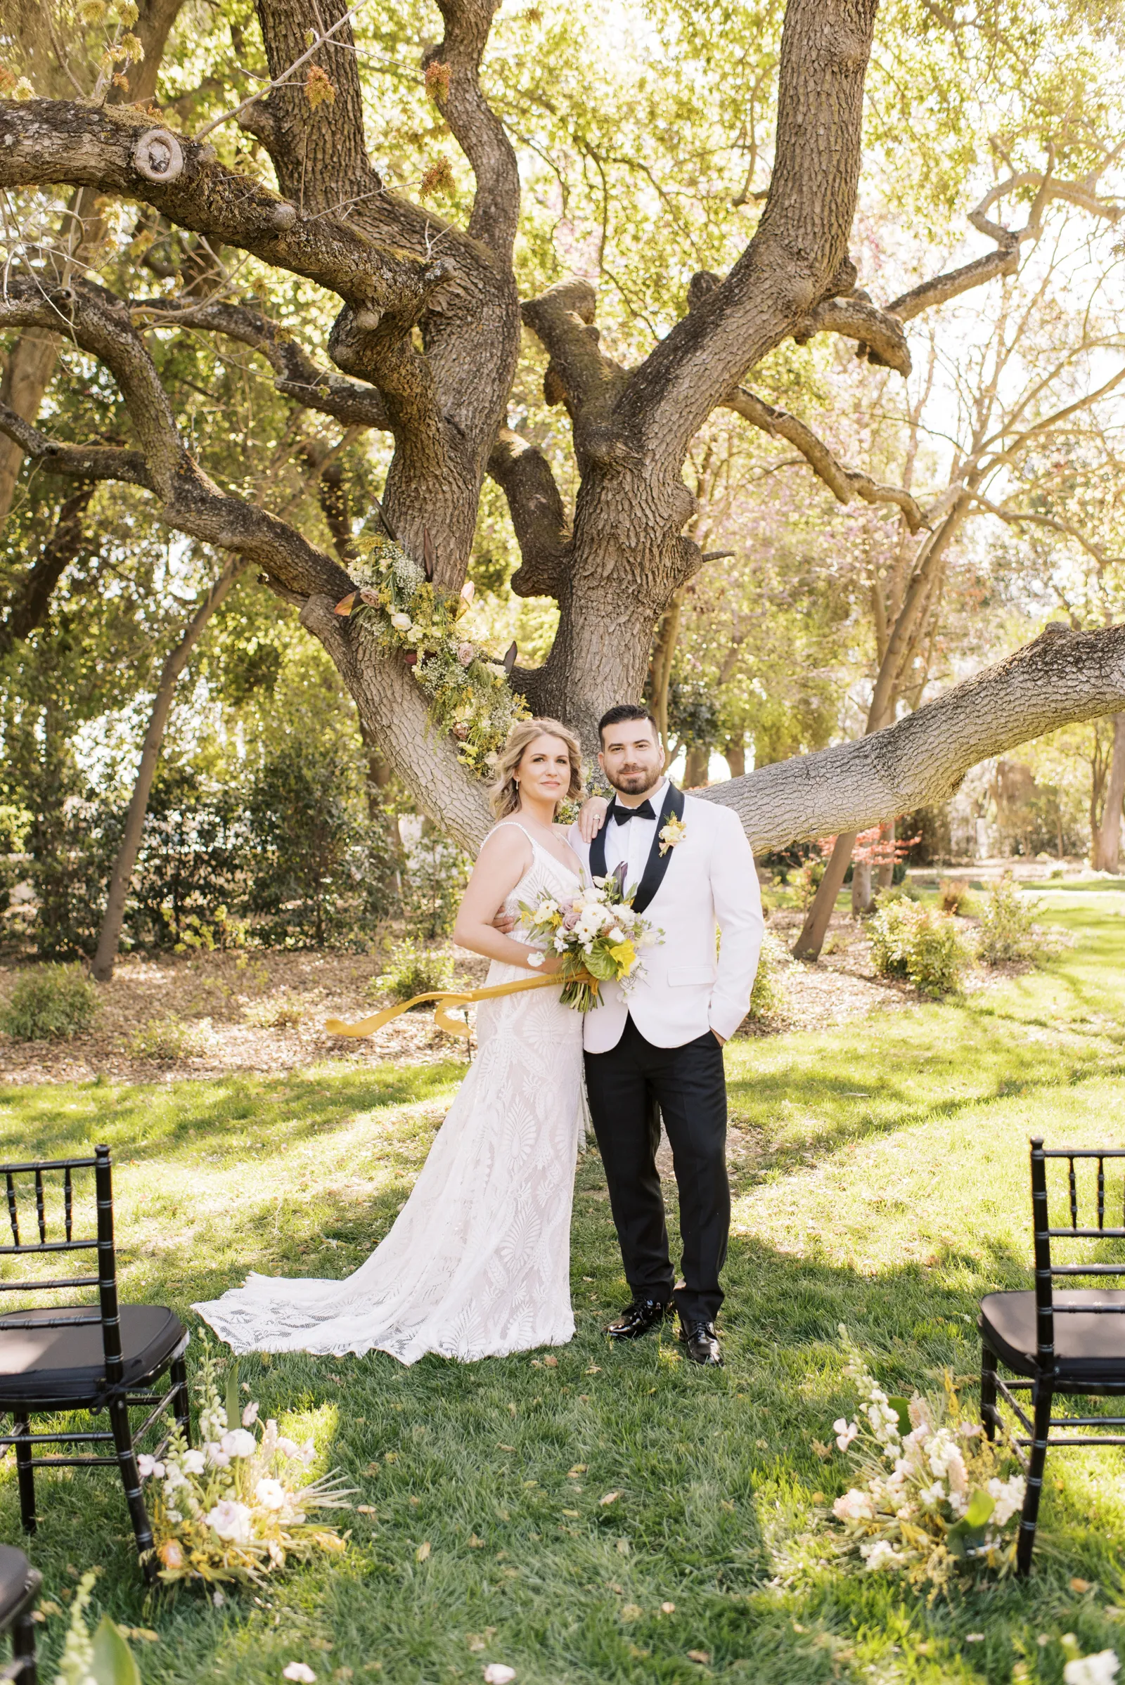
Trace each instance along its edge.
<instances>
[{"instance_id":1,"label":"dark seat cushion of the black chair at the right edge","mask_svg":"<svg viewBox=\"0 0 1125 1685\"><path fill-rule=\"evenodd\" d=\"M1125 1380L1125 1314L1076 1314L1063 1304L1117 1304L1125 1311L1125 1289L1073 1287L1054 1294L1054 1372L1059 1380ZM1017 1375L1034 1375L1034 1292L990 1292L980 1301L978 1328L995 1355Z\"/></svg>"}]
</instances>

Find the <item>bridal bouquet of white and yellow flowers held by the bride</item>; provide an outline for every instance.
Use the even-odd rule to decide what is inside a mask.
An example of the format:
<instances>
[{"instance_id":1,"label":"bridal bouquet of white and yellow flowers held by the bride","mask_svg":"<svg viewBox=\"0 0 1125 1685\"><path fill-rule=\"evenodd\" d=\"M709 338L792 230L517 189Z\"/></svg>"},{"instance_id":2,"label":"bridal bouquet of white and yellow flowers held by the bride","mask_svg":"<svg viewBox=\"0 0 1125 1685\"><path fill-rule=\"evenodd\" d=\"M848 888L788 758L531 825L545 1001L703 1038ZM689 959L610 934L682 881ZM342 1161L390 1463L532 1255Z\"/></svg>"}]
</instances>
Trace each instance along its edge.
<instances>
[{"instance_id":1,"label":"bridal bouquet of white and yellow flowers held by the bride","mask_svg":"<svg viewBox=\"0 0 1125 1685\"><path fill-rule=\"evenodd\" d=\"M532 939L562 955L562 1004L579 1013L600 1006L598 986L637 981L640 949L660 933L633 912L625 893L623 871L594 878L578 895L552 900L544 895L536 907L520 901L520 923ZM534 954L529 964L542 964Z\"/></svg>"}]
</instances>

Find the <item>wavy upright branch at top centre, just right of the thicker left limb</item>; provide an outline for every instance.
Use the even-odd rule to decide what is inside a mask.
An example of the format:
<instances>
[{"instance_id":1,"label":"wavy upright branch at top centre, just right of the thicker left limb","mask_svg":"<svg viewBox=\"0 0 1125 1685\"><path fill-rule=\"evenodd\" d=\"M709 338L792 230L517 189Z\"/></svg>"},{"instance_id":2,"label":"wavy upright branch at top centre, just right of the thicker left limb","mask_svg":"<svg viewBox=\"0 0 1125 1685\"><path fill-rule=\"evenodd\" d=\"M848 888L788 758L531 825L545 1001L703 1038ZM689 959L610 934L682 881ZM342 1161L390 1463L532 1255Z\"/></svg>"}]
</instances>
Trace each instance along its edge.
<instances>
[{"instance_id":1,"label":"wavy upright branch at top centre, just right of the thicker left limb","mask_svg":"<svg viewBox=\"0 0 1125 1685\"><path fill-rule=\"evenodd\" d=\"M438 0L438 10L445 19L445 40L423 61L426 83L477 177L470 238L509 265L519 222L519 167L504 125L480 86L480 59L499 0Z\"/></svg>"}]
</instances>

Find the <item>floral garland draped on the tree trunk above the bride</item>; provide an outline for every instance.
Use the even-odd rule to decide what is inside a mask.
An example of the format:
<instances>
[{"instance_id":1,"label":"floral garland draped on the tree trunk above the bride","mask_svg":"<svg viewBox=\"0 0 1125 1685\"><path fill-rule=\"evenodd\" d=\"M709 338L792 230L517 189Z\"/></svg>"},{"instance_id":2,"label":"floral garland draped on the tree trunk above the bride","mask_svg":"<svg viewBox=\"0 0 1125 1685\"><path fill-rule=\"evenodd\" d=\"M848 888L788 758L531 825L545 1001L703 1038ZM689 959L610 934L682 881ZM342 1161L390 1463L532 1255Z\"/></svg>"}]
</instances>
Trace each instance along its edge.
<instances>
[{"instance_id":1,"label":"floral garland draped on the tree trunk above the bride","mask_svg":"<svg viewBox=\"0 0 1125 1685\"><path fill-rule=\"evenodd\" d=\"M429 718L456 741L458 758L480 777L497 762L509 730L527 718L527 704L509 677L515 645L493 661L458 630L473 600L441 591L401 544L384 534L355 541L349 571L357 585L337 603L381 649L399 650L429 701Z\"/></svg>"}]
</instances>

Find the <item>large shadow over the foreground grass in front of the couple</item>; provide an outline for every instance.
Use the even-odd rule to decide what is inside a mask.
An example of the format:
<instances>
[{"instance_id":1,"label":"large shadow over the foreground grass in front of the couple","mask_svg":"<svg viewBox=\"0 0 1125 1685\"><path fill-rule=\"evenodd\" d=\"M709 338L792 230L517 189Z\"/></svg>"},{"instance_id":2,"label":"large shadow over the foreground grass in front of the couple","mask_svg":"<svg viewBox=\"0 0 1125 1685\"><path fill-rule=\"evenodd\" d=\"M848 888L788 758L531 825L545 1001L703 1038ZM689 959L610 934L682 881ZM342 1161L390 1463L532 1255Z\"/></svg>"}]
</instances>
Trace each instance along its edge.
<instances>
[{"instance_id":1,"label":"large shadow over the foreground grass in front of the couple","mask_svg":"<svg viewBox=\"0 0 1125 1685\"><path fill-rule=\"evenodd\" d=\"M1049 1479L1048 1549L1027 1584L970 1587L933 1609L884 1575L830 1565L771 1584L792 1540L822 1532L813 1493L825 1503L847 1484L845 1459L822 1463L812 1449L854 1405L837 1324L888 1390L933 1385L943 1370L975 1375L977 1301L1026 1284L1022 1254L985 1240L946 1249L930 1269L864 1276L736 1238L728 1367L709 1373L667 1335L610 1348L601 1323L620 1257L608 1213L579 1213L573 1240L578 1335L551 1353L554 1367L542 1351L411 1370L379 1353L244 1360L263 1414L318 1432L327 1463L376 1511L354 1518L342 1564L232 1594L222 1609L192 1592L145 1599L113 1476L59 1471L39 1486L34 1557L47 1596L72 1586L67 1564L104 1564L104 1606L162 1634L143 1655L147 1685L216 1672L264 1685L291 1660L322 1678L337 1668L362 1678L377 1660L382 1677L409 1685L478 1677L480 1660L514 1665L520 1685L682 1685L699 1678L690 1650L712 1672L768 1685L862 1677L911 1650L913 1678L1007 1682L1041 1631L1112 1643L1108 1618L1069 1579L1113 1584L1125 1525L1081 1481L1059 1493ZM184 1257L152 1262L157 1297L194 1321L199 1281L185 1279ZM261 1262L283 1267L285 1247L263 1249ZM8 1476L0 1533L15 1528ZM49 1658L59 1633L52 1619ZM483 1651L468 1650L473 1633ZM968 1633L985 1638L967 1643Z\"/></svg>"}]
</instances>

